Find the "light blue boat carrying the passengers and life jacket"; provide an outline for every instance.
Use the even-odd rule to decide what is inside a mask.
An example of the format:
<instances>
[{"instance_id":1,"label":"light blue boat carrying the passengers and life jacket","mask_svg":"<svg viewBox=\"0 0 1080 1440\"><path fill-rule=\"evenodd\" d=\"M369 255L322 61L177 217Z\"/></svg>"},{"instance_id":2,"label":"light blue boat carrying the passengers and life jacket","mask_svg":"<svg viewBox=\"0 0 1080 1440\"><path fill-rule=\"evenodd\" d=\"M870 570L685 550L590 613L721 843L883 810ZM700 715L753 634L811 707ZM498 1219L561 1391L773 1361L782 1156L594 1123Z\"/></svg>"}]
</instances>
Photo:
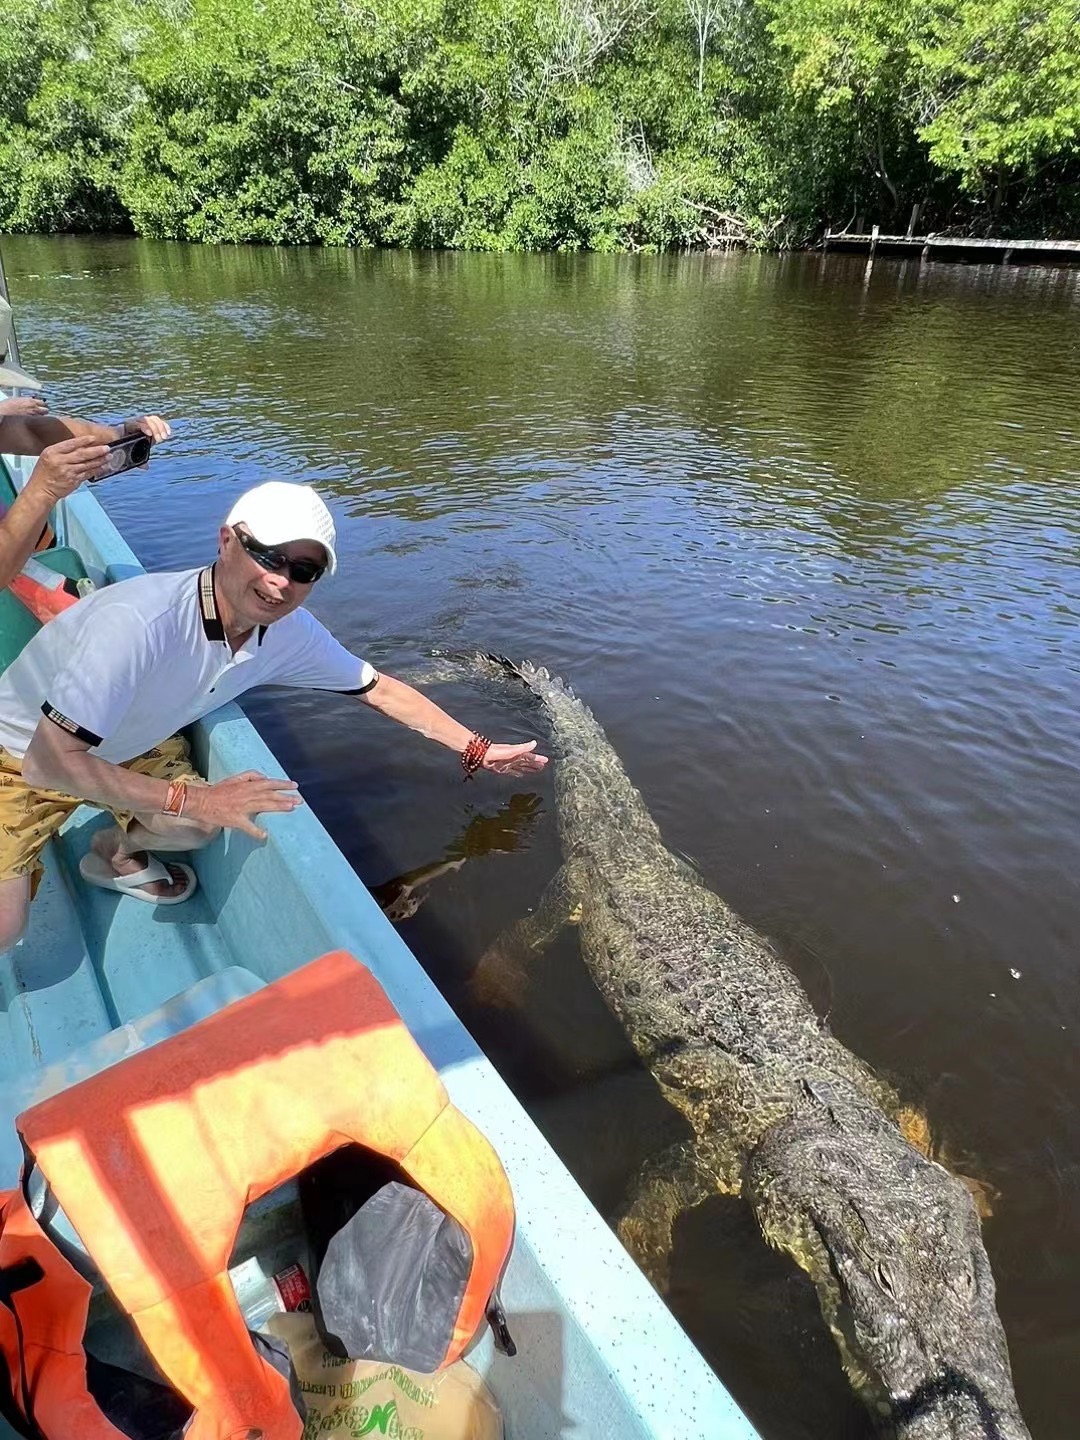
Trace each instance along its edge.
<instances>
[{"instance_id":1,"label":"light blue boat carrying the passengers and life jacket","mask_svg":"<svg viewBox=\"0 0 1080 1440\"><path fill-rule=\"evenodd\" d=\"M0 279L1 285L1 279ZM32 461L0 458L10 503ZM108 585L143 573L85 487L63 501L58 547L39 559ZM0 593L0 670L36 621ZM284 772L236 706L190 732L210 780ZM485 1328L468 1354L508 1440L755 1440L756 1431L577 1187L308 808L264 816L189 857L196 894L157 909L84 884L99 812L76 811L49 844L24 939L0 956L0 1189L19 1181L14 1116L331 950L383 986L451 1100L488 1138L517 1208L500 1286L517 1354ZM0 1420L0 1440L13 1437Z\"/></svg>"}]
</instances>

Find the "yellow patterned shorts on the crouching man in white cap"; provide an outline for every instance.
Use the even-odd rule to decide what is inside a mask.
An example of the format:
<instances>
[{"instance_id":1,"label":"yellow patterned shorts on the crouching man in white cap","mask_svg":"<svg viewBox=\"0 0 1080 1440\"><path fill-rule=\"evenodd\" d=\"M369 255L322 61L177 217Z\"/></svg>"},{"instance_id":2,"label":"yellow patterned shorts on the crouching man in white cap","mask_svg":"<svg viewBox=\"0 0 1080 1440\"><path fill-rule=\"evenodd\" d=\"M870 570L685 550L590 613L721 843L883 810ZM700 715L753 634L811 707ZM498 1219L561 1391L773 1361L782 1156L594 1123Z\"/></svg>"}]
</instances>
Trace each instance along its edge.
<instances>
[{"instance_id":1,"label":"yellow patterned shorts on the crouching man in white cap","mask_svg":"<svg viewBox=\"0 0 1080 1440\"><path fill-rule=\"evenodd\" d=\"M156 780L180 780L181 783L203 783L203 778L192 765L192 750L183 736L174 734L156 744L145 755L125 760L125 770L135 775L151 775ZM65 819L79 805L73 795L59 791L36 791L23 779L22 762L0 746L0 883L30 873L30 894L37 890L45 867L42 850L56 834ZM118 825L128 828L134 815L114 811Z\"/></svg>"}]
</instances>

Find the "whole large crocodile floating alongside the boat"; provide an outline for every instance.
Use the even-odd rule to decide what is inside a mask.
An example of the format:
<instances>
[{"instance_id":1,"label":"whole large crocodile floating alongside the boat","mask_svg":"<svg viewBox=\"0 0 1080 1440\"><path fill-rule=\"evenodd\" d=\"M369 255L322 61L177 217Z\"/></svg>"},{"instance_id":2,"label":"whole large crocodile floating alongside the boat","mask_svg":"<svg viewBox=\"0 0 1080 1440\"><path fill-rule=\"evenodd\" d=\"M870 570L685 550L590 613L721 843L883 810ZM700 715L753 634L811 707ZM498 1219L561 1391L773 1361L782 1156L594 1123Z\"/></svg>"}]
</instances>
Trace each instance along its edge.
<instances>
[{"instance_id":1,"label":"whole large crocodile floating alongside the boat","mask_svg":"<svg viewBox=\"0 0 1080 1440\"><path fill-rule=\"evenodd\" d=\"M449 660L451 657L444 657ZM680 1212L742 1195L814 1283L844 1368L899 1440L1030 1440L972 1191L924 1120L818 1017L772 945L674 854L592 711L544 668L523 683L556 757L563 864L482 956L488 996L569 922L609 1008L691 1138L651 1159L618 1230L661 1290ZM917 1123L912 1123L916 1119Z\"/></svg>"}]
</instances>

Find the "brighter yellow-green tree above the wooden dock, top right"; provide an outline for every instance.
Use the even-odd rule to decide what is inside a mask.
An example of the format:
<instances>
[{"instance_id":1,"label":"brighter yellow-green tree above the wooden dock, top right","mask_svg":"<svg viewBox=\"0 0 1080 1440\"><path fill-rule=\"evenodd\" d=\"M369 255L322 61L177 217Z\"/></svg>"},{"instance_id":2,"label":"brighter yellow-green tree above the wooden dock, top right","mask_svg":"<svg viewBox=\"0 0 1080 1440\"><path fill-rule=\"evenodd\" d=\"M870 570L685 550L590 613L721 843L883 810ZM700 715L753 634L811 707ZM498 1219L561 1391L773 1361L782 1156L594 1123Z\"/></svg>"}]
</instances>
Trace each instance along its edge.
<instances>
[{"instance_id":1,"label":"brighter yellow-green tree above the wooden dock, top right","mask_svg":"<svg viewBox=\"0 0 1080 1440\"><path fill-rule=\"evenodd\" d=\"M1008 229L1035 200L1050 230L1076 229L1076 183L1063 184L1080 177L1076 0L769 3L796 105L837 130L852 177L868 168L896 219L929 199L960 226ZM851 193L871 209L865 186Z\"/></svg>"}]
</instances>

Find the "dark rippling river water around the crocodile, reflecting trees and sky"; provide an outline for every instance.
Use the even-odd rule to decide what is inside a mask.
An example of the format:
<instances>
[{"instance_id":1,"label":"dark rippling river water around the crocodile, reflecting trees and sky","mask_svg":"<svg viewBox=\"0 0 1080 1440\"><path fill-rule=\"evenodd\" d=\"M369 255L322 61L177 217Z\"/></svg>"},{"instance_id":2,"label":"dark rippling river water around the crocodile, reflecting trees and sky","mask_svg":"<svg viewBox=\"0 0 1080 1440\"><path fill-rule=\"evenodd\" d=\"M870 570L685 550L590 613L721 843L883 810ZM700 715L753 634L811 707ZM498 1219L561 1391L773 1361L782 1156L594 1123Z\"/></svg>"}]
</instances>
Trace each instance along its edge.
<instances>
[{"instance_id":1,"label":"dark rippling river water around the crocodile, reflecting trees and sky","mask_svg":"<svg viewBox=\"0 0 1080 1440\"><path fill-rule=\"evenodd\" d=\"M999 1191L1021 1404L1035 1440L1071 1437L1080 276L35 239L4 261L58 408L176 425L98 492L150 569L206 560L249 484L310 480L341 554L312 608L346 644L573 680L668 842ZM539 733L510 700L439 698ZM467 788L347 700L249 708L369 884L468 857L403 933L615 1214L674 1117L573 936L513 1012L467 988L557 865L550 782ZM868 1433L737 1201L681 1221L670 1300L769 1440Z\"/></svg>"}]
</instances>

